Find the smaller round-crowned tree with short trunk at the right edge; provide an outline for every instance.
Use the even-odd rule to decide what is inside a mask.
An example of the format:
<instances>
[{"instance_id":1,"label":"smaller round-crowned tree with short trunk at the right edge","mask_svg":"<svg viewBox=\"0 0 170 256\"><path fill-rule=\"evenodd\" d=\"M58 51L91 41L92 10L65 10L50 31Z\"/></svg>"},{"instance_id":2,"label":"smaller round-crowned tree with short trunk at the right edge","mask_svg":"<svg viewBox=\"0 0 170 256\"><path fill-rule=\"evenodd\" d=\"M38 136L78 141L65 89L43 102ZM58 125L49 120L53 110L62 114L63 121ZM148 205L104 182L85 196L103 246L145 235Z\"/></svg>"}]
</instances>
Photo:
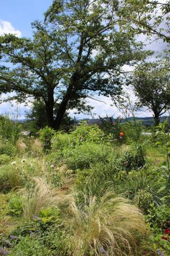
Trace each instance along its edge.
<instances>
[{"instance_id":1,"label":"smaller round-crowned tree with short trunk at the right edge","mask_svg":"<svg viewBox=\"0 0 170 256\"><path fill-rule=\"evenodd\" d=\"M170 109L170 72L167 62L144 63L134 72L132 84L141 106L154 113L154 123L159 124L160 115Z\"/></svg>"}]
</instances>

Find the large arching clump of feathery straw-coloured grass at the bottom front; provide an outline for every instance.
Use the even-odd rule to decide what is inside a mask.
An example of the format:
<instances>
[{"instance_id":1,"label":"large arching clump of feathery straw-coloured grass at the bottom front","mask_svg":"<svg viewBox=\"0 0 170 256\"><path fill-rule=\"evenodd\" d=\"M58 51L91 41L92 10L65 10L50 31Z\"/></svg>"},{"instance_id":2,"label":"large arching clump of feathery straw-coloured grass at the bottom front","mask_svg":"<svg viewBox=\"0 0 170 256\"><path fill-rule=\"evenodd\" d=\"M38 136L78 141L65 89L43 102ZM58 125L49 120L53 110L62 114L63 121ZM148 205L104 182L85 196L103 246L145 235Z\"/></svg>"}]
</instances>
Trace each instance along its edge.
<instances>
[{"instance_id":1,"label":"large arching clump of feathery straw-coloured grass at the bottom front","mask_svg":"<svg viewBox=\"0 0 170 256\"><path fill-rule=\"evenodd\" d=\"M147 232L140 210L114 193L100 200L84 195L84 204L74 198L69 209L69 255L134 255L140 235Z\"/></svg>"}]
</instances>

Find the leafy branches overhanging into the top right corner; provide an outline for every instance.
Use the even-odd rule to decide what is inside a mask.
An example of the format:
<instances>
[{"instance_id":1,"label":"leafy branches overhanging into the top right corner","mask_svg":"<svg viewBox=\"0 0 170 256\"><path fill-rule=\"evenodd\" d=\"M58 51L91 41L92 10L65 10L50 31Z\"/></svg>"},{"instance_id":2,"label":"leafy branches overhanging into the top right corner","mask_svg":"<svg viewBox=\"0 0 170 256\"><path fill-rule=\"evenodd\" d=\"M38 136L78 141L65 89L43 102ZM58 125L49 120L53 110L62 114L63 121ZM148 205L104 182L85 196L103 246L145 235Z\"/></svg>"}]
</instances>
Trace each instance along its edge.
<instances>
[{"instance_id":1,"label":"leafy branches overhanging into the top right corner","mask_svg":"<svg viewBox=\"0 0 170 256\"><path fill-rule=\"evenodd\" d=\"M122 15L138 34L162 38L170 43L170 2L169 0L126 0Z\"/></svg>"}]
</instances>

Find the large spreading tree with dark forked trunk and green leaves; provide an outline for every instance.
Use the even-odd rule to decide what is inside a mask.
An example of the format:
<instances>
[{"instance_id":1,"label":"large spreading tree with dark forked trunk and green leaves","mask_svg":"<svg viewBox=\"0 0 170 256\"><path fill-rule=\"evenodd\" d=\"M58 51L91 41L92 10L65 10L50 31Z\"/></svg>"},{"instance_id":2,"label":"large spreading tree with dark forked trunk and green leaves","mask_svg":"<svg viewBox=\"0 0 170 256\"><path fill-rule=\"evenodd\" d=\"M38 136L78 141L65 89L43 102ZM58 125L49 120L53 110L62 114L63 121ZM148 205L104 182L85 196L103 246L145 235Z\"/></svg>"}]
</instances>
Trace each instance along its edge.
<instances>
[{"instance_id":1,"label":"large spreading tree with dark forked trunk and green leaves","mask_svg":"<svg viewBox=\"0 0 170 256\"><path fill-rule=\"evenodd\" d=\"M15 66L0 71L0 90L44 100L48 125L58 130L70 108L94 94L114 97L125 64L145 57L129 27L120 27L122 1L55 0L33 39L1 36L0 51ZM54 116L54 104L58 110Z\"/></svg>"}]
</instances>

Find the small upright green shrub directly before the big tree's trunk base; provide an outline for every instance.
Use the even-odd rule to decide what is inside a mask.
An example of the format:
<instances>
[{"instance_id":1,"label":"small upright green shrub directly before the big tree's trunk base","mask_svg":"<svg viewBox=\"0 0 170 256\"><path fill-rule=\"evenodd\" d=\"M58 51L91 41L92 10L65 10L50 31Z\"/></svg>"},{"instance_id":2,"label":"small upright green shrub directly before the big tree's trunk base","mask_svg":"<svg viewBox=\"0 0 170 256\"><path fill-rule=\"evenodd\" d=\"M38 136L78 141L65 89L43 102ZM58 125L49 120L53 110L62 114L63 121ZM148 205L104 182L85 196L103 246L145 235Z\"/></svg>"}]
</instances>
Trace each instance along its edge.
<instances>
[{"instance_id":1,"label":"small upright green shrub directly before the big tree's trunk base","mask_svg":"<svg viewBox=\"0 0 170 256\"><path fill-rule=\"evenodd\" d=\"M40 140L43 143L44 151L49 151L51 148L51 140L54 135L54 130L51 127L45 126L40 130Z\"/></svg>"}]
</instances>

